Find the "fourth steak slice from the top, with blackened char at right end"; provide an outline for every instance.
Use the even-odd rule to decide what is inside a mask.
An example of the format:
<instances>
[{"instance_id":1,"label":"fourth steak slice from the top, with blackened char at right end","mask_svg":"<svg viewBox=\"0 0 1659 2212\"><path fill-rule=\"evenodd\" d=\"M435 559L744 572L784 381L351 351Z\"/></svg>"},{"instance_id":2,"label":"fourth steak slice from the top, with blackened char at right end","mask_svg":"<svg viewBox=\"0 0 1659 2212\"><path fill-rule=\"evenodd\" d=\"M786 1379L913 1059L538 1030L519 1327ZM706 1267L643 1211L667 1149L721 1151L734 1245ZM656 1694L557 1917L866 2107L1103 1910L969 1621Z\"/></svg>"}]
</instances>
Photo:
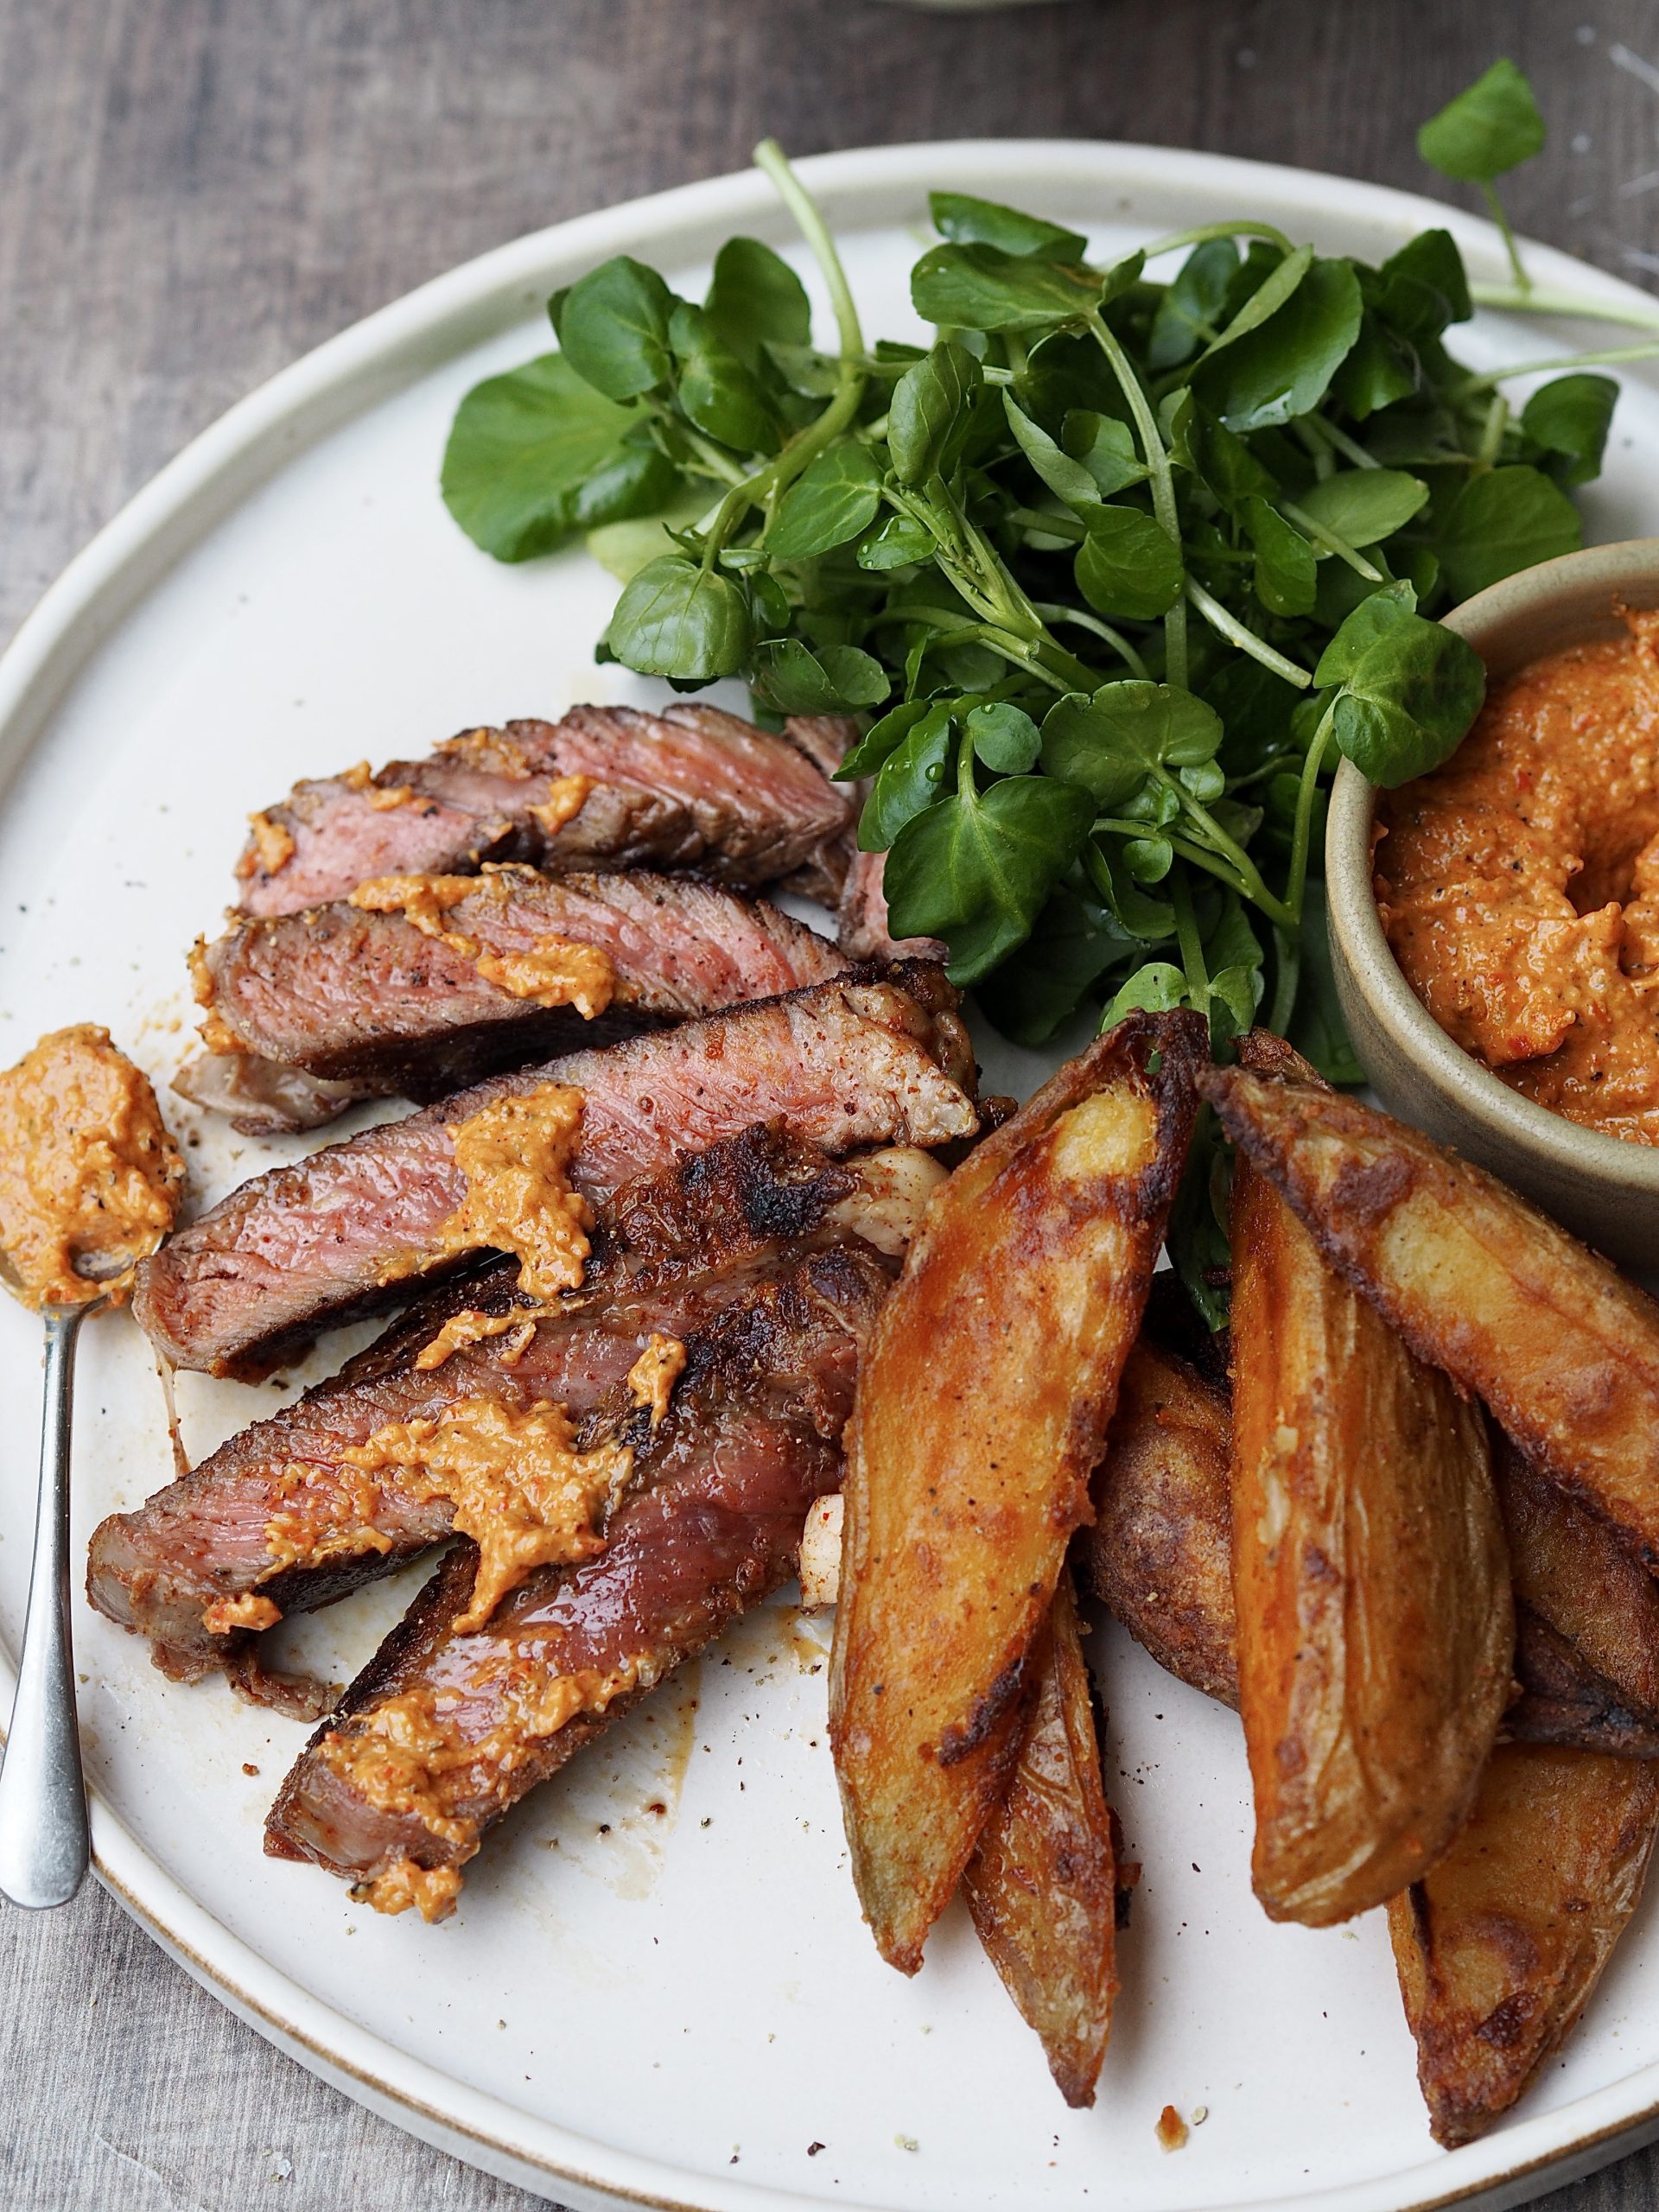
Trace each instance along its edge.
<instances>
[{"instance_id":1,"label":"fourth steak slice from the top, with blackened char at right end","mask_svg":"<svg viewBox=\"0 0 1659 2212\"><path fill-rule=\"evenodd\" d=\"M232 1436L137 1513L111 1515L88 1546L86 1595L106 1619L148 1637L175 1681L228 1668L254 1630L208 1630L210 1606L261 1595L281 1613L310 1613L449 1531L449 1502L394 1475L378 1478L365 1526L347 1449L387 1422L434 1418L471 1396L511 1407L560 1400L586 1413L653 1332L686 1336L752 1287L757 1270L776 1270L781 1252L854 1237L900 1252L940 1172L896 1152L843 1166L781 1130L750 1128L672 1175L630 1183L604 1212L584 1287L533 1323L529 1345L495 1336L422 1371L418 1354L453 1314L529 1307L513 1261L429 1292L341 1374ZM279 1515L336 1533L338 1548L279 1573L268 1533ZM341 1535L352 1526L363 1531L356 1544Z\"/></svg>"}]
</instances>

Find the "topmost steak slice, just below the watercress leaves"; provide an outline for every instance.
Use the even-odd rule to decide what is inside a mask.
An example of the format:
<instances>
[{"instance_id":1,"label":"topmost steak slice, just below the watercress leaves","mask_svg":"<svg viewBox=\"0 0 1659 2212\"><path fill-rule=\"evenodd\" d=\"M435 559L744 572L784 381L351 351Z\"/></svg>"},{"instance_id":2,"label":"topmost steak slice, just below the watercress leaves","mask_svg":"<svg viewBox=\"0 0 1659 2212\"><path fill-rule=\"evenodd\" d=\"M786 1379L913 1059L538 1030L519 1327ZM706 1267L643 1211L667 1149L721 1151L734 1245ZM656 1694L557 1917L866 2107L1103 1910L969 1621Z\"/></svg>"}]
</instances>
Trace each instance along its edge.
<instances>
[{"instance_id":1,"label":"topmost steak slice, just below the watercress leaves","mask_svg":"<svg viewBox=\"0 0 1659 2212\"><path fill-rule=\"evenodd\" d=\"M566 776L591 783L580 792ZM327 905L372 876L482 860L695 867L750 887L816 867L821 894L834 898L841 869L821 854L845 825L847 801L812 759L737 714L577 706L560 723L465 730L376 776L296 783L254 816L237 880L243 911L259 916Z\"/></svg>"}]
</instances>

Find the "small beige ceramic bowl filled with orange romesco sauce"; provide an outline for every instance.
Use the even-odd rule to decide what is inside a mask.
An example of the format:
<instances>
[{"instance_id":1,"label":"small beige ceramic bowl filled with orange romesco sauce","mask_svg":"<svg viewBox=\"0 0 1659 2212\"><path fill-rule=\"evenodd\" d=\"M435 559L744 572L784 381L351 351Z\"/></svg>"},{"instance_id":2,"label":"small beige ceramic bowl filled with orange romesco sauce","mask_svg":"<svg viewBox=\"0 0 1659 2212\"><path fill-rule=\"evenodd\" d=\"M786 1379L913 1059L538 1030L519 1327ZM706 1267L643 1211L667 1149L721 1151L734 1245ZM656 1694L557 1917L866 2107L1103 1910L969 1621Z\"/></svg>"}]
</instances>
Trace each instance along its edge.
<instances>
[{"instance_id":1,"label":"small beige ceramic bowl filled with orange romesco sauce","mask_svg":"<svg viewBox=\"0 0 1659 2212\"><path fill-rule=\"evenodd\" d=\"M1332 964L1383 1104L1626 1265L1659 1267L1659 538L1444 617L1486 703L1396 792L1345 761Z\"/></svg>"}]
</instances>

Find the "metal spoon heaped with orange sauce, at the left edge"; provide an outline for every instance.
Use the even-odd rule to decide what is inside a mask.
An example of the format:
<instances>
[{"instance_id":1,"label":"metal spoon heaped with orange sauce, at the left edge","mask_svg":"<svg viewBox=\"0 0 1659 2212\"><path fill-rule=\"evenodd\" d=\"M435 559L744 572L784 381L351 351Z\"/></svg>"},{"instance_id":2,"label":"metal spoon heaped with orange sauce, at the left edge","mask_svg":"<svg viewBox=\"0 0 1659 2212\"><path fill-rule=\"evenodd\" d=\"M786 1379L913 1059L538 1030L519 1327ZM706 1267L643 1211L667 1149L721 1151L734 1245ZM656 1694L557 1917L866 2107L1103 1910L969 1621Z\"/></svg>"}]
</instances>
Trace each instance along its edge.
<instances>
[{"instance_id":1,"label":"metal spoon heaped with orange sauce, at the left edge","mask_svg":"<svg viewBox=\"0 0 1659 2212\"><path fill-rule=\"evenodd\" d=\"M69 1613L75 1340L88 1314L126 1303L181 1190L155 1091L108 1031L53 1031L0 1075L0 1283L46 1329L29 1613L0 1761L0 1893L13 1905L66 1905L91 1854Z\"/></svg>"}]
</instances>

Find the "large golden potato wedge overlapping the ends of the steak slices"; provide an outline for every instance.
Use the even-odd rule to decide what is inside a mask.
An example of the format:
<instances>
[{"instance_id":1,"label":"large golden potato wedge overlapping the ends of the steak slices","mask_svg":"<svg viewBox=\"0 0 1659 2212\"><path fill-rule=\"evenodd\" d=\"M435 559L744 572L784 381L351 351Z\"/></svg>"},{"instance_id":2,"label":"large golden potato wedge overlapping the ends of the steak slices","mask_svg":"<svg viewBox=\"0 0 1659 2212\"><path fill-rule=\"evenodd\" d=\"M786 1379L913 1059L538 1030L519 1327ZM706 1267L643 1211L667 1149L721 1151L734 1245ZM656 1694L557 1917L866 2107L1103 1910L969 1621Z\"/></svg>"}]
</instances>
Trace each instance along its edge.
<instances>
[{"instance_id":1,"label":"large golden potato wedge overlapping the ends of the steak slices","mask_svg":"<svg viewBox=\"0 0 1659 2212\"><path fill-rule=\"evenodd\" d=\"M916 1973L1006 1787L1192 1133L1199 1015L1133 1013L933 1199L847 1429L830 1734L876 1944Z\"/></svg>"}]
</instances>

